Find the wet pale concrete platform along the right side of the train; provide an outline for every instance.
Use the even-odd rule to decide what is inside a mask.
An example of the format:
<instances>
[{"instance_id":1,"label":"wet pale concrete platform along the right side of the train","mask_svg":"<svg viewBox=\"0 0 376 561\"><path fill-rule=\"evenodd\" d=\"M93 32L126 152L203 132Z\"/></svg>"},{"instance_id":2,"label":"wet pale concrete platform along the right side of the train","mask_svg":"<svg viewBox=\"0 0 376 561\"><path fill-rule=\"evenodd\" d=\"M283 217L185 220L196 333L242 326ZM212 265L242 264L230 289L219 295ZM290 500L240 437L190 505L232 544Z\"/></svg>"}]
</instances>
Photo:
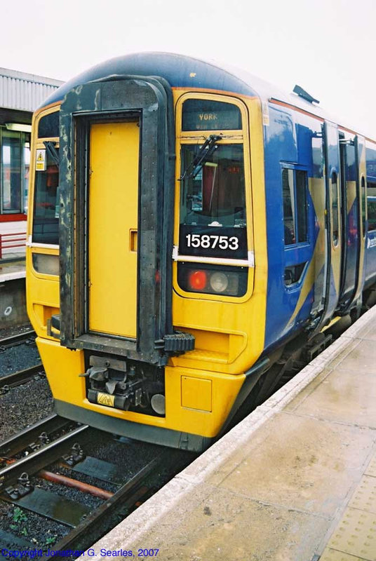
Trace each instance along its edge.
<instances>
[{"instance_id":1,"label":"wet pale concrete platform along the right side of the train","mask_svg":"<svg viewBox=\"0 0 376 561\"><path fill-rule=\"evenodd\" d=\"M376 561L376 306L85 556L139 548Z\"/></svg>"}]
</instances>

